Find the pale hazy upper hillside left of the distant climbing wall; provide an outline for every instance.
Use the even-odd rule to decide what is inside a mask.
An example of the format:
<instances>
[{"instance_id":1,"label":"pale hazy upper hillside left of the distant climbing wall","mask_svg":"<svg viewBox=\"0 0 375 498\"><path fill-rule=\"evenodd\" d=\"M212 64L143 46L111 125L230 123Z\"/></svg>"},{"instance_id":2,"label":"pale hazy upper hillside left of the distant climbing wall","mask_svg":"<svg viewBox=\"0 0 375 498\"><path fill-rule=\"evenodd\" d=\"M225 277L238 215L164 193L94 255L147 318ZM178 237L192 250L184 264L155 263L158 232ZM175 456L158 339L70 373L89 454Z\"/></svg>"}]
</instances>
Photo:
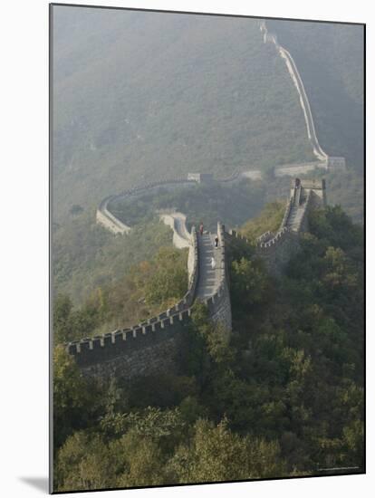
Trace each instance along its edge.
<instances>
[{"instance_id":1,"label":"pale hazy upper hillside left of the distant climbing wall","mask_svg":"<svg viewBox=\"0 0 375 498\"><path fill-rule=\"evenodd\" d=\"M53 13L59 221L145 178L312 159L293 82L257 20Z\"/></svg>"}]
</instances>

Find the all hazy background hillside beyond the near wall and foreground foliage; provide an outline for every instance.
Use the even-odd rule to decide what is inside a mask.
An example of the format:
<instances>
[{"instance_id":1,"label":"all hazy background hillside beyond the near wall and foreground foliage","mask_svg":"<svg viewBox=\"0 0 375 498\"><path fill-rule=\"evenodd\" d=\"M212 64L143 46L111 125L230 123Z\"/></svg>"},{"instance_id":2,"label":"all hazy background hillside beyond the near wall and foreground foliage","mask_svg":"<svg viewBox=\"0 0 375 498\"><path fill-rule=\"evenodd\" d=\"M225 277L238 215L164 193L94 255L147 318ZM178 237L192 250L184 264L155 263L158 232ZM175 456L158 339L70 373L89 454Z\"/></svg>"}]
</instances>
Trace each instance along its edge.
<instances>
[{"instance_id":1,"label":"all hazy background hillside beyond the near wall and foreground foliage","mask_svg":"<svg viewBox=\"0 0 375 498\"><path fill-rule=\"evenodd\" d=\"M361 222L362 28L266 24L298 65L322 147L348 159L346 173L327 176L329 203ZM288 195L290 179L272 177L271 168L310 159L297 91L257 20L53 7L56 292L82 302L170 239L152 217L166 199L126 206L123 218L137 227L119 239L95 225L104 196L189 171L264 169L264 181L236 191L167 199L189 223L236 226Z\"/></svg>"}]
</instances>

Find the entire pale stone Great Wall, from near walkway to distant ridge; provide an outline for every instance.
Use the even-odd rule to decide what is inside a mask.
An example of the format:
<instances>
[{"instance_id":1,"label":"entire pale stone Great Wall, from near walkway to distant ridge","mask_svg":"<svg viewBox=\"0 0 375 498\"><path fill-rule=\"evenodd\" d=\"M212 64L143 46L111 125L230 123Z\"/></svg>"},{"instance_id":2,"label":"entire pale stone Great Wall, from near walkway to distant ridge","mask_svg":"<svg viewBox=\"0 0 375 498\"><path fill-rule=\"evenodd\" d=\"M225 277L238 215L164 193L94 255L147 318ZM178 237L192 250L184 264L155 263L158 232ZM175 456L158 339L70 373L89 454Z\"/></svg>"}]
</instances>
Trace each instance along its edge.
<instances>
[{"instance_id":1,"label":"entire pale stone Great Wall, from near walkway to distant ridge","mask_svg":"<svg viewBox=\"0 0 375 498\"><path fill-rule=\"evenodd\" d=\"M307 136L312 145L312 152L317 158L311 163L276 167L274 176L295 177L315 168L327 171L345 169L344 158L329 157L319 144L310 102L292 55L278 43L275 34L268 32L264 21L260 23L260 31L264 43L272 43L284 59L299 94ZM107 196L97 209L96 220L113 234L128 234L131 226L118 217L115 209L119 201L131 202L149 192L157 194L160 188L191 187L197 183L214 181L226 184L241 181L243 178L259 180L262 179L262 172L236 171L230 177L216 180L207 173L189 173L187 178L161 179L130 188L115 196ZM214 234L197 234L194 226L191 232L187 231L186 215L173 209L159 212L160 219L173 230L173 244L178 248L188 248L186 294L168 310L133 327L70 342L66 346L68 352L74 356L83 374L88 376L130 379L178 370L186 346L185 341L188 340L188 325L195 302L206 304L212 321L221 323L226 330L232 329L228 266L233 250L241 251L244 247L251 247L254 257L263 259L270 272L277 276L298 251L301 234L308 230L309 212L317 206L325 205L325 180L295 179L285 206L283 221L275 233L265 232L258 237L256 244L251 244L243 235L235 230L226 230L225 226L218 222L217 248Z\"/></svg>"}]
</instances>

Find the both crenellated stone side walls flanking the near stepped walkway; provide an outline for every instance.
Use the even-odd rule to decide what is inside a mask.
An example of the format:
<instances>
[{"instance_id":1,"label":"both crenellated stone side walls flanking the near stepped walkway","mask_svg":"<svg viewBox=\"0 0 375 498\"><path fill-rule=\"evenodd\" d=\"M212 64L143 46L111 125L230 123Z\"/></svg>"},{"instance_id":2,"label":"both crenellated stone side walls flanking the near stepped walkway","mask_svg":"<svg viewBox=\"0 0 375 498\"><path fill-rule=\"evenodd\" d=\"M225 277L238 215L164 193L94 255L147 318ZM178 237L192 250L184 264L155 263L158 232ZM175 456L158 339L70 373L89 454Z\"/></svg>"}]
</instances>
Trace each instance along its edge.
<instances>
[{"instance_id":1,"label":"both crenellated stone side walls flanking the near stepped walkway","mask_svg":"<svg viewBox=\"0 0 375 498\"><path fill-rule=\"evenodd\" d=\"M219 278L216 291L204 302L211 320L220 322L227 330L231 330L225 227L220 223L217 224L217 237L216 273ZM67 345L68 352L75 357L84 374L104 378L134 378L178 369L178 355L190 323L192 305L197 298L199 244L194 226L191 230L189 260L191 272L187 292L168 310L130 328L72 341Z\"/></svg>"}]
</instances>

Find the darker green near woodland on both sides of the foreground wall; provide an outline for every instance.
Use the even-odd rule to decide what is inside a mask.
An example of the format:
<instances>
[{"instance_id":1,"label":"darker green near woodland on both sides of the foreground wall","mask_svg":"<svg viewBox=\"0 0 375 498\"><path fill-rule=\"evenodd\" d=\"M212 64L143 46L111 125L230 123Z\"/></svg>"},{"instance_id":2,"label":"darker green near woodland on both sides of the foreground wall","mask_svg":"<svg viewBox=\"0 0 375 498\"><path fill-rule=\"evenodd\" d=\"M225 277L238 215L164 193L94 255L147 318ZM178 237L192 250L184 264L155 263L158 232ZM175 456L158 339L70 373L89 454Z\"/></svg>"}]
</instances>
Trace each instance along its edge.
<instances>
[{"instance_id":1,"label":"darker green near woodland on both sides of the foreground wall","mask_svg":"<svg viewBox=\"0 0 375 498\"><path fill-rule=\"evenodd\" d=\"M262 220L272 228L280 212L267 206L243 231L257 235ZM130 272L126 286L108 287L91 308L59 300L55 490L362 472L361 226L337 206L313 212L300 253L278 278L237 254L233 332L196 305L178 374L116 378L108 386L83 378L59 342L82 332L82 323L122 316L139 295L149 292L155 305L177 296L184 272L152 285L160 281L155 270L167 273L173 258L182 268L183 252L171 251Z\"/></svg>"}]
</instances>

